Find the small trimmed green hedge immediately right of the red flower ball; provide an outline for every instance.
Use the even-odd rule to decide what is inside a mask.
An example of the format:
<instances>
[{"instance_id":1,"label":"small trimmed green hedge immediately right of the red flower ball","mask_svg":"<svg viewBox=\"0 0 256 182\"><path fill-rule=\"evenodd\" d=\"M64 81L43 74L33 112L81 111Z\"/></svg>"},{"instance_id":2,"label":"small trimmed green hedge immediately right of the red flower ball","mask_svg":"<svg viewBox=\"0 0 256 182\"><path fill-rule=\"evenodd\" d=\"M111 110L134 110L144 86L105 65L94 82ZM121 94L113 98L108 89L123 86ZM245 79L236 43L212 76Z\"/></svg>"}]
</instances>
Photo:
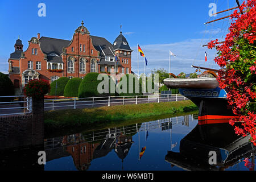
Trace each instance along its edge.
<instances>
[{"instance_id":1,"label":"small trimmed green hedge immediately right of the red flower ball","mask_svg":"<svg viewBox=\"0 0 256 182\"><path fill-rule=\"evenodd\" d=\"M51 83L51 92L49 93L50 96L55 96L55 90L56 90L56 82L57 82L57 90L56 90L56 96L63 96L64 95L64 89L69 81L68 77L61 77L58 80L55 80Z\"/></svg>"}]
</instances>

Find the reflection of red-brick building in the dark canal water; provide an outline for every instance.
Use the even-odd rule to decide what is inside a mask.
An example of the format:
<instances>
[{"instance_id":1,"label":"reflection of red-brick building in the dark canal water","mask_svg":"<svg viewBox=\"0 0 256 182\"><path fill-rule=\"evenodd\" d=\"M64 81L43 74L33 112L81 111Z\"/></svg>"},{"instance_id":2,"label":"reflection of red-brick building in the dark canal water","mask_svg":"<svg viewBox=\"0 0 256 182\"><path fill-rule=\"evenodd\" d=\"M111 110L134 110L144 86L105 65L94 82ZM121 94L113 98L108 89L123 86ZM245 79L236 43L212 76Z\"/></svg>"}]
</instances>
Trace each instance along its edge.
<instances>
[{"instance_id":1,"label":"reflection of red-brick building in the dark canal water","mask_svg":"<svg viewBox=\"0 0 256 182\"><path fill-rule=\"evenodd\" d=\"M99 133L102 134L102 132ZM106 156L112 150L123 161L133 143L131 135L134 134L123 135L123 132L117 133L117 130L113 132L109 129L107 134L101 135L100 140L92 140L98 138L96 135L88 137L81 133L45 139L44 148L48 156L47 162L71 155L77 169L87 170L93 159Z\"/></svg>"}]
</instances>

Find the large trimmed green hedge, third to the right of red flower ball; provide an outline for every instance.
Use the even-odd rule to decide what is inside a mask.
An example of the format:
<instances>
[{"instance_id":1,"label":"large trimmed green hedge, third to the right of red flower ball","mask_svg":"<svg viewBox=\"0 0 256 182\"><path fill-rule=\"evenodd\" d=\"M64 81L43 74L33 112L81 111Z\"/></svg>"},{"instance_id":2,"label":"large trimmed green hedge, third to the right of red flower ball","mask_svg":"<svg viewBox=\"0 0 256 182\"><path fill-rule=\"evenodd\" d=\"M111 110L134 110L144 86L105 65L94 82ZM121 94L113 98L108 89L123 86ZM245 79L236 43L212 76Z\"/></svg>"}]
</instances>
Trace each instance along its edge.
<instances>
[{"instance_id":1,"label":"large trimmed green hedge, third to the right of red flower ball","mask_svg":"<svg viewBox=\"0 0 256 182\"><path fill-rule=\"evenodd\" d=\"M97 80L99 73L88 73L79 86L78 97L98 97L98 84L101 80Z\"/></svg>"}]
</instances>

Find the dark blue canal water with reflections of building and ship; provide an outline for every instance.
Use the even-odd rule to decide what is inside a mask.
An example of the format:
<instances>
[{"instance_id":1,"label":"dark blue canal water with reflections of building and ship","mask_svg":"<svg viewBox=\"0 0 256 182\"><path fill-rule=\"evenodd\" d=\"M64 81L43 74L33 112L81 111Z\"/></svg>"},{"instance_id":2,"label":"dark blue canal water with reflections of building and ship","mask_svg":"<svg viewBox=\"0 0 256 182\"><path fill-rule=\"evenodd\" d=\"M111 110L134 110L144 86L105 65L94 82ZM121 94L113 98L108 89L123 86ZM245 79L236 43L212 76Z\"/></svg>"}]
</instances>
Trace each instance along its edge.
<instances>
[{"instance_id":1,"label":"dark blue canal water with reflections of building and ship","mask_svg":"<svg viewBox=\"0 0 256 182\"><path fill-rule=\"evenodd\" d=\"M38 150L46 152L46 165L36 164ZM249 170L245 158L255 162L255 148L247 138L237 137L228 123L198 125L197 115L47 138L42 148L30 150L31 155L27 151L1 154L1 167L19 163L19 169L44 171L240 171ZM216 156L213 164L210 151Z\"/></svg>"}]
</instances>

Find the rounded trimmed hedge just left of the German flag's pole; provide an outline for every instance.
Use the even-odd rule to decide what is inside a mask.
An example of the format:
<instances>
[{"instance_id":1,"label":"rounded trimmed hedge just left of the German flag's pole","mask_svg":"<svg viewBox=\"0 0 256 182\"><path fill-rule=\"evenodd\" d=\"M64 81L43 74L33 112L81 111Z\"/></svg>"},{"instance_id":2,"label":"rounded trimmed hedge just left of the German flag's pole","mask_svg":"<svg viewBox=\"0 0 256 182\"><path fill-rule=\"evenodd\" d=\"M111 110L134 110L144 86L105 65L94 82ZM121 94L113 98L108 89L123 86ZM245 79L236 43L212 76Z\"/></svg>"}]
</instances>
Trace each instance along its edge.
<instances>
[{"instance_id":1,"label":"rounded trimmed hedge just left of the German flag's pole","mask_svg":"<svg viewBox=\"0 0 256 182\"><path fill-rule=\"evenodd\" d=\"M127 82L127 90L125 90L125 88L123 88L123 85L122 85L122 80L123 79L125 79L125 77L126 77L126 82ZM130 77L130 79L132 80L132 82L133 82L133 85L129 85L129 77ZM122 77L121 77L121 79L120 79L120 81L118 82L118 84L117 84L117 87L118 87L118 90L119 90L119 96L142 96L142 87L141 87L141 83L139 82L139 88L138 88L138 85L137 86L135 86L135 80L136 81L138 81L139 82L139 80L138 80L138 78L136 77L136 76L134 76L134 75L131 75L131 74L126 74L126 75L123 75ZM131 81L130 81L131 82ZM133 87L133 92L131 92L131 93L129 93L129 86L131 87ZM138 91L139 91L139 93L138 92L136 92L137 90L135 90L135 88L136 89L139 89ZM123 90L122 90L123 89ZM130 88L131 89L131 88ZM123 92L125 92L126 91L126 93L123 93Z\"/></svg>"}]
</instances>

